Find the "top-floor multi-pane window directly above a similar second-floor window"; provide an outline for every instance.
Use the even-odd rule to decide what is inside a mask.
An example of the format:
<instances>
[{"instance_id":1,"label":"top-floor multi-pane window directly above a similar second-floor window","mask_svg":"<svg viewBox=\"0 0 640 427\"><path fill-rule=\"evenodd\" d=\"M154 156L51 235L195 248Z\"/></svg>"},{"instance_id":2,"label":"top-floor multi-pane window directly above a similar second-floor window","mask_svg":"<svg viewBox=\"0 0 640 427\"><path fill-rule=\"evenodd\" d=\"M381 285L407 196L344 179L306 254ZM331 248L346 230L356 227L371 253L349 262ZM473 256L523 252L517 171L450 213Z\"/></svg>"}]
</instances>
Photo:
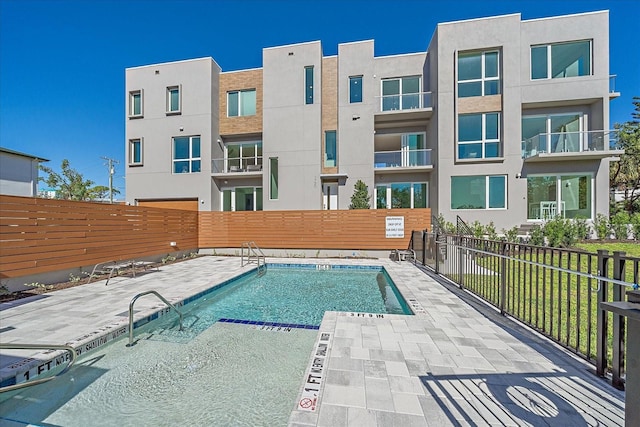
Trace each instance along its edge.
<instances>
[{"instance_id":1,"label":"top-floor multi-pane window directly above a similar second-floor window","mask_svg":"<svg viewBox=\"0 0 640 427\"><path fill-rule=\"evenodd\" d=\"M498 51L458 55L458 97L500 93L500 54Z\"/></svg>"}]
</instances>

